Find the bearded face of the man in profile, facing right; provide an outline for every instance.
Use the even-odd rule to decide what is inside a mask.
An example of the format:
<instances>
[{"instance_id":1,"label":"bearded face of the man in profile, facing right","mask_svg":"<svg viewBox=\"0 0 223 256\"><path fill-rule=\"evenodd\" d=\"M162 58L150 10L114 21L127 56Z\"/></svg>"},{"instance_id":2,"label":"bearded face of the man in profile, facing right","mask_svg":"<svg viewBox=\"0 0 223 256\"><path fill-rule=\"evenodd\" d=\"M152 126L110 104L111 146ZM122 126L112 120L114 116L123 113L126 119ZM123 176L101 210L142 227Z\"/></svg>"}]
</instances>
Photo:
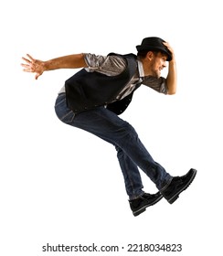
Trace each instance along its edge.
<instances>
[{"instance_id":1,"label":"bearded face of the man in profile, facing right","mask_svg":"<svg viewBox=\"0 0 223 256\"><path fill-rule=\"evenodd\" d=\"M161 70L166 67L166 55L158 52L154 53L153 59L151 61L151 72L152 76L155 78L161 77Z\"/></svg>"}]
</instances>

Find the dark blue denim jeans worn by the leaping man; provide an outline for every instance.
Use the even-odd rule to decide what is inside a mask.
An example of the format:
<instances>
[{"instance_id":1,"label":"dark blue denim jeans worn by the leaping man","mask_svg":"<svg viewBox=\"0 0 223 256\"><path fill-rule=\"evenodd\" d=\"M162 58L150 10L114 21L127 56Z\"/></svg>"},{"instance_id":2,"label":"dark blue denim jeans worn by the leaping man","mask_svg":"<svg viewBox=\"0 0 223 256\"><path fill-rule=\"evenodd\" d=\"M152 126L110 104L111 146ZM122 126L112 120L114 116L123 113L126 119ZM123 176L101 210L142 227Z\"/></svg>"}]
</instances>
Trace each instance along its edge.
<instances>
[{"instance_id":1,"label":"dark blue denim jeans worn by the leaping man","mask_svg":"<svg viewBox=\"0 0 223 256\"><path fill-rule=\"evenodd\" d=\"M115 146L130 199L140 197L144 193L138 167L150 177L159 190L171 181L172 176L166 173L163 166L154 162L133 126L117 114L104 107L74 114L67 106L65 93L58 95L55 111L63 123L92 133Z\"/></svg>"}]
</instances>

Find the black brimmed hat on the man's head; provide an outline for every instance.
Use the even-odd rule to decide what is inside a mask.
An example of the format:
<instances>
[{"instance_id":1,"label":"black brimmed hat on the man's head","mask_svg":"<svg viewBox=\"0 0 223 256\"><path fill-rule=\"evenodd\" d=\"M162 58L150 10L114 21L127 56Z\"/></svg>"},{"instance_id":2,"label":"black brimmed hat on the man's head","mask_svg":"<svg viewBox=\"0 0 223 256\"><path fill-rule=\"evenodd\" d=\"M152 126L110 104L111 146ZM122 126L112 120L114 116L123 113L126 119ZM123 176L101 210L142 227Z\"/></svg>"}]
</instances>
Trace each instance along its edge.
<instances>
[{"instance_id":1,"label":"black brimmed hat on the man's head","mask_svg":"<svg viewBox=\"0 0 223 256\"><path fill-rule=\"evenodd\" d=\"M168 48L163 44L165 40L160 37L146 37L143 38L142 44L140 46L136 46L138 52L139 51L161 51L167 55L167 61L172 59L172 54Z\"/></svg>"}]
</instances>

